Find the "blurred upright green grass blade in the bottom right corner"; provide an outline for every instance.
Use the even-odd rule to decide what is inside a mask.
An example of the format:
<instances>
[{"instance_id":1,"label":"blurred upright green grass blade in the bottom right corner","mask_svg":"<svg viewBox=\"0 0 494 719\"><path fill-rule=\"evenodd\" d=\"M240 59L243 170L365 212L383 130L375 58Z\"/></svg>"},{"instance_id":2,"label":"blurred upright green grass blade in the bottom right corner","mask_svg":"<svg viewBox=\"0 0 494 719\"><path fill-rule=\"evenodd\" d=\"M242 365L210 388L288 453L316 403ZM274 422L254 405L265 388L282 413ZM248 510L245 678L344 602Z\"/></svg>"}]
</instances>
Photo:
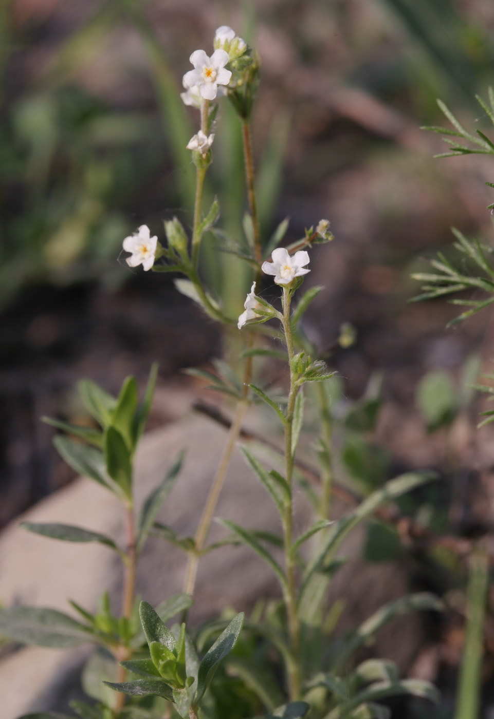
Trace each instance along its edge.
<instances>
[{"instance_id":1,"label":"blurred upright green grass blade in the bottom right corner","mask_svg":"<svg viewBox=\"0 0 494 719\"><path fill-rule=\"evenodd\" d=\"M454 719L477 719L480 713L485 605L489 588L489 558L480 548L472 557L467 590L467 631L459 672Z\"/></svg>"}]
</instances>

